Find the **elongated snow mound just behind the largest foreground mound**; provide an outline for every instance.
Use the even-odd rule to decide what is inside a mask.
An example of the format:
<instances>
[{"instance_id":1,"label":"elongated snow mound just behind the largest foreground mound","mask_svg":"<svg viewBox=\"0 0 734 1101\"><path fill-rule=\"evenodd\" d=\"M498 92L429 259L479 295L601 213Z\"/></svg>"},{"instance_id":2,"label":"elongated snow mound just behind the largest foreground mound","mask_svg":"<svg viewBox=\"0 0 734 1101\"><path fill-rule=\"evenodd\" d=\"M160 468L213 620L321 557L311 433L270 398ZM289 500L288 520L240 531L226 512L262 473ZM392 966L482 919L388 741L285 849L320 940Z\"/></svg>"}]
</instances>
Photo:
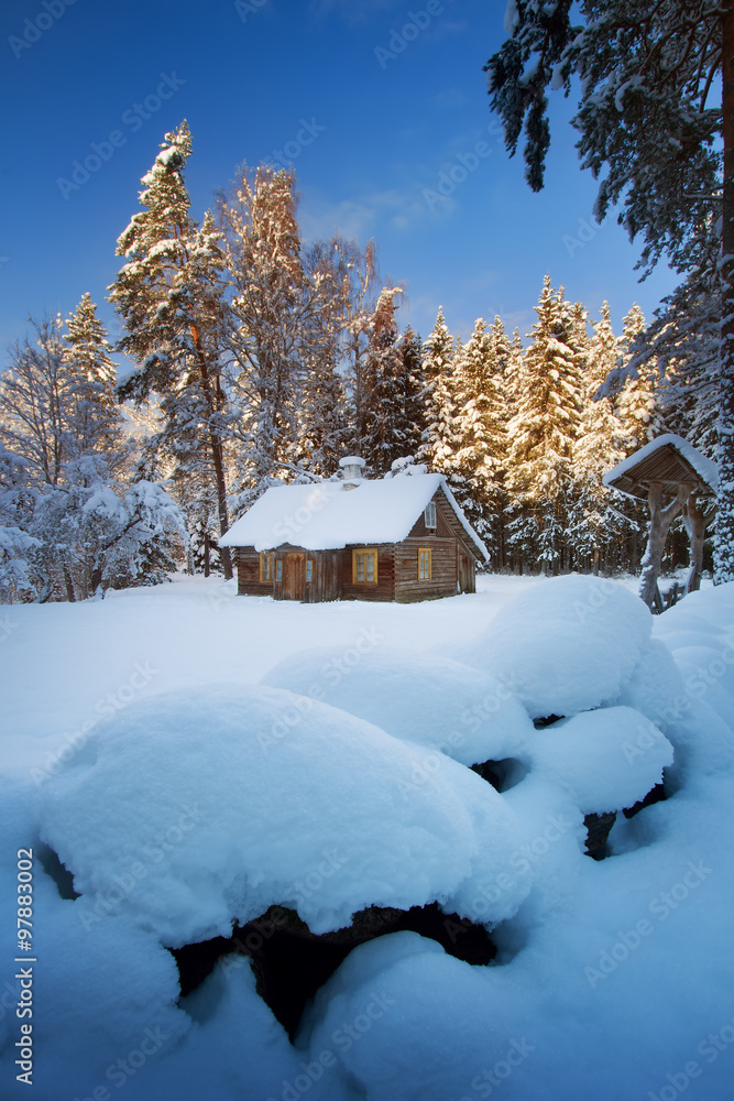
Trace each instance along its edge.
<instances>
[{"instance_id":1,"label":"elongated snow mound just behind the largest foreground mound","mask_svg":"<svg viewBox=\"0 0 734 1101\"><path fill-rule=\"evenodd\" d=\"M516 755L534 733L506 682L429 654L324 646L286 658L262 683L325 700L462 764Z\"/></svg>"}]
</instances>

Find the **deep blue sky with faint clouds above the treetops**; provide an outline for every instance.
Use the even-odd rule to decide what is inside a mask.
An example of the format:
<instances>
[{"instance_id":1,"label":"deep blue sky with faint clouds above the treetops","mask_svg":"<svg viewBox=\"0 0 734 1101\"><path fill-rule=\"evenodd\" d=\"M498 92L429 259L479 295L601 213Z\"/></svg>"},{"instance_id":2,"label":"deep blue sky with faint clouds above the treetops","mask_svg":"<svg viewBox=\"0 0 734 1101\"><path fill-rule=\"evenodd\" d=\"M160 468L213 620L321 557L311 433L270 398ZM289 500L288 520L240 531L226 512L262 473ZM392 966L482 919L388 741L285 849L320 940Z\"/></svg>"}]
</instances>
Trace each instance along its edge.
<instances>
[{"instance_id":1,"label":"deep blue sky with faint clouds above the treetops","mask_svg":"<svg viewBox=\"0 0 734 1101\"><path fill-rule=\"evenodd\" d=\"M452 334L500 314L528 331L550 272L618 331L650 317L673 280L638 284L638 249L614 216L591 221L572 100L552 100L546 189L525 184L489 109L482 65L504 39L504 0L19 0L0 15L0 347L30 314L105 302L140 177L187 118L200 218L238 165L292 160L306 239L379 246L383 276L425 338L439 304ZM116 133L117 132L117 133ZM114 134L113 140L110 135ZM479 143L479 144L478 144ZM95 145L97 150L95 151ZM74 163L88 161L88 178ZM76 183L75 183L76 178ZM68 181L74 186L64 183Z\"/></svg>"}]
</instances>

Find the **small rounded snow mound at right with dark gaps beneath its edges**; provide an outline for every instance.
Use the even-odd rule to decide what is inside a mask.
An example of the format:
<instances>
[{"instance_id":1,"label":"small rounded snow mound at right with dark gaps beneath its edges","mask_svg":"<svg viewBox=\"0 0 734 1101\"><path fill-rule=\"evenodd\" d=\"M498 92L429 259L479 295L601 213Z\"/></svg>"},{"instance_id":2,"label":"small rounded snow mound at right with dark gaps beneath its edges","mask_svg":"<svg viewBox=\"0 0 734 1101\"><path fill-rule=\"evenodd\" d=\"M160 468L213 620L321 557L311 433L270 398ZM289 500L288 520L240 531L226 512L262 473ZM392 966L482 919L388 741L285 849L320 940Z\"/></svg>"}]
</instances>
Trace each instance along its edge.
<instances>
[{"instance_id":1,"label":"small rounded snow mound at right with dark gaps beneath its edges","mask_svg":"<svg viewBox=\"0 0 734 1101\"><path fill-rule=\"evenodd\" d=\"M568 787L582 814L633 806L662 778L672 745L631 707L577 715L538 731L533 766Z\"/></svg>"}]
</instances>

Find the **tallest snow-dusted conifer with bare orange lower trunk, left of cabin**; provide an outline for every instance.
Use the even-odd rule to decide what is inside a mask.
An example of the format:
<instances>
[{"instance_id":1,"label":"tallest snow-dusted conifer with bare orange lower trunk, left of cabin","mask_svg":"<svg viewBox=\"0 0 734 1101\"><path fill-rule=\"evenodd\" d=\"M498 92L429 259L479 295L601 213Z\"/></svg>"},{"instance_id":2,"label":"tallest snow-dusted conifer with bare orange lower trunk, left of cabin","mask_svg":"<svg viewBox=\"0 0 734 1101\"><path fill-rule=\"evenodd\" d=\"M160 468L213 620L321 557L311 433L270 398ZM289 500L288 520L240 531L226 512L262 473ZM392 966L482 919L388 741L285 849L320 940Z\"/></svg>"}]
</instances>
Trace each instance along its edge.
<instances>
[{"instance_id":1,"label":"tallest snow-dusted conifer with bare orange lower trunk, left of cabin","mask_svg":"<svg viewBox=\"0 0 734 1101\"><path fill-rule=\"evenodd\" d=\"M141 183L143 209L118 240L125 258L110 287L124 323L120 349L136 370L119 388L122 399L160 395L163 428L156 444L182 470L211 456L219 531L229 527L223 439L230 418L221 385L224 257L213 217L191 219L184 170L191 152L186 121L165 135ZM229 552L222 550L231 577Z\"/></svg>"}]
</instances>

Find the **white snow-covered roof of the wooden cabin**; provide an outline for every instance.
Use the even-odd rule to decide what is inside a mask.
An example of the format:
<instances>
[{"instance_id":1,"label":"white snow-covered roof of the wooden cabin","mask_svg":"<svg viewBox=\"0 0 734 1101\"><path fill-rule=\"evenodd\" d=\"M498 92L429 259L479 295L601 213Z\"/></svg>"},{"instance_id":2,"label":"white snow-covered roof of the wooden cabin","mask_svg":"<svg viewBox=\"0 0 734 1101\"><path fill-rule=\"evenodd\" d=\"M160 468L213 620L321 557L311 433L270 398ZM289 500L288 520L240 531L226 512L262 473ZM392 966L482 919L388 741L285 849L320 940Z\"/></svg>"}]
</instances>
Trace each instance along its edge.
<instances>
[{"instance_id":1,"label":"white snow-covered roof of the wooden cabin","mask_svg":"<svg viewBox=\"0 0 734 1101\"><path fill-rule=\"evenodd\" d=\"M352 544L401 543L428 502L442 489L472 543L484 558L486 547L473 530L442 475L402 475L269 489L219 541L220 546L272 550L291 543L307 550L336 550Z\"/></svg>"}]
</instances>

